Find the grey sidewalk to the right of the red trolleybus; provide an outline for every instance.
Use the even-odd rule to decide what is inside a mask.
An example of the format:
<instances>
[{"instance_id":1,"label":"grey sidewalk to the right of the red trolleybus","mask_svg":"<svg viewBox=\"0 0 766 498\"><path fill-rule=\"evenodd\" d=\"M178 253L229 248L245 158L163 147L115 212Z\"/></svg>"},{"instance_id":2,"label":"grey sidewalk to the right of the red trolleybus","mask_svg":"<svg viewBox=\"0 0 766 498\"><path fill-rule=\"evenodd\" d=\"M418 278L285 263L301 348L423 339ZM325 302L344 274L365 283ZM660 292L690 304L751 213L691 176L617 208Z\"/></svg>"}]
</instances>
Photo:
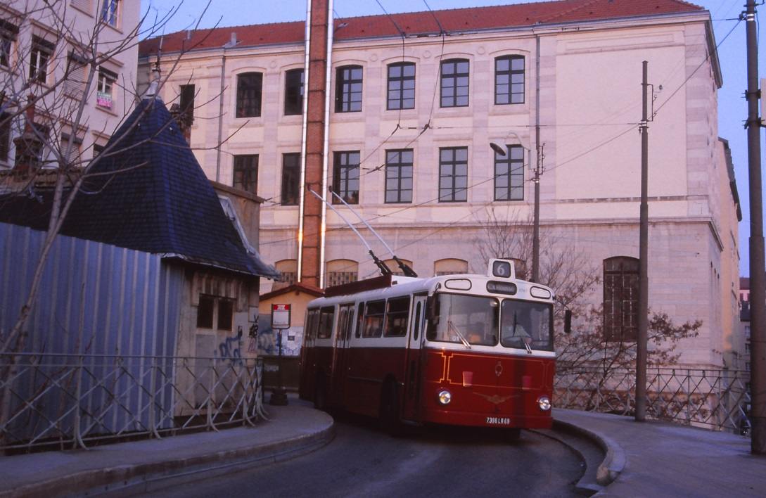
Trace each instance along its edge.
<instances>
[{"instance_id":1,"label":"grey sidewalk to the right of the red trolleybus","mask_svg":"<svg viewBox=\"0 0 766 498\"><path fill-rule=\"evenodd\" d=\"M553 416L607 449L602 474L615 479L597 496L766 496L766 457L751 455L746 437L575 410Z\"/></svg>"}]
</instances>

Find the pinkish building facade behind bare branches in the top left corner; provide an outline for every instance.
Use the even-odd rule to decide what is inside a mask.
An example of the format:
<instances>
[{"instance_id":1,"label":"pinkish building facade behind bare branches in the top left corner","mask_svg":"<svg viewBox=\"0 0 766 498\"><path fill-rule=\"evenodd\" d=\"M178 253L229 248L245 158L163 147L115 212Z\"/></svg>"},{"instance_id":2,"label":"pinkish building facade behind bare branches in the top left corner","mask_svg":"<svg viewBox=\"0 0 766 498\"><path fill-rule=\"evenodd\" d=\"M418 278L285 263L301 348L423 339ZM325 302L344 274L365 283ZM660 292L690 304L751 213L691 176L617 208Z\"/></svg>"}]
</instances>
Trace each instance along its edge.
<instances>
[{"instance_id":1,"label":"pinkish building facade behind bare branches in the top left corner","mask_svg":"<svg viewBox=\"0 0 766 498\"><path fill-rule=\"evenodd\" d=\"M29 167L20 153L22 136L40 143L31 162L42 168L87 165L106 145L136 101L139 8L121 0L0 4L6 188L12 188L8 171Z\"/></svg>"}]
</instances>

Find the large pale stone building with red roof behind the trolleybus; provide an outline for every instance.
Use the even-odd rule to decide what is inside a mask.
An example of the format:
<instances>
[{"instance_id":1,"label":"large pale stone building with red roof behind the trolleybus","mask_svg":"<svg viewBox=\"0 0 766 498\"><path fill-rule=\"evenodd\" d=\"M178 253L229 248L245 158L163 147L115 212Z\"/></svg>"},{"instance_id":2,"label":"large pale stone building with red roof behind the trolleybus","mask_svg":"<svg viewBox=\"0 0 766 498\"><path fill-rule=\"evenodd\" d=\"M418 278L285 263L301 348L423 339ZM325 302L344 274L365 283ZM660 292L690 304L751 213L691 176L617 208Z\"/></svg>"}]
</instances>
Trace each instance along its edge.
<instances>
[{"instance_id":1,"label":"large pale stone building with red roof behind the trolleybus","mask_svg":"<svg viewBox=\"0 0 766 498\"><path fill-rule=\"evenodd\" d=\"M210 179L267 199L260 251L287 280L310 195L300 185L304 28L184 31L165 35L160 56L167 71L188 50L162 97L193 109L191 146ZM159 45L142 44L139 73ZM490 213L531 219L539 165L541 233L554 241L541 260L562 246L587 254L600 277L589 300L604 303L614 334L633 333L643 61L653 88L650 307L702 319L680 361L722 367L737 321L738 198L702 8L574 0L336 19L325 185L418 274L483 272ZM329 210L321 264L324 285L376 274Z\"/></svg>"}]
</instances>

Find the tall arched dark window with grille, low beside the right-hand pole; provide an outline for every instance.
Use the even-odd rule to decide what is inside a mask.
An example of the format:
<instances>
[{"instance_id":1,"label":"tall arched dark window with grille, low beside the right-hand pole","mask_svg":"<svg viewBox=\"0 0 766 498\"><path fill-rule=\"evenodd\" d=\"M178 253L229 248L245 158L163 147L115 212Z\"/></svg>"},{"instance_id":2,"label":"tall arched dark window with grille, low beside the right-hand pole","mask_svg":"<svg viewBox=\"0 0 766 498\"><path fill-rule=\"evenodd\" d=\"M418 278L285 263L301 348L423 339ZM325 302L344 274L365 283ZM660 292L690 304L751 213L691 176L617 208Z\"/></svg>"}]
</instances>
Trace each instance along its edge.
<instances>
[{"instance_id":1,"label":"tall arched dark window with grille, low beside the right-hand pole","mask_svg":"<svg viewBox=\"0 0 766 498\"><path fill-rule=\"evenodd\" d=\"M637 340L638 283L635 257L604 260L604 337L607 341Z\"/></svg>"}]
</instances>

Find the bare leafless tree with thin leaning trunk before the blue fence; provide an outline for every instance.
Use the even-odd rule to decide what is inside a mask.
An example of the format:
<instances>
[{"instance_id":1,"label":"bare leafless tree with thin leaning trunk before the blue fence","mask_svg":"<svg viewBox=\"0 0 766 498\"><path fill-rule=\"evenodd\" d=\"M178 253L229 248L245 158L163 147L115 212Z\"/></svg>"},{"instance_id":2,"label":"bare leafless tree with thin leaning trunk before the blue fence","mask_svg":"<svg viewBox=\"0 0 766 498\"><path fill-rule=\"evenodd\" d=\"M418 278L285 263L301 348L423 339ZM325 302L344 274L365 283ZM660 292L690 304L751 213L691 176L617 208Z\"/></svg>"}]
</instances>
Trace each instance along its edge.
<instances>
[{"instance_id":1,"label":"bare leafless tree with thin leaning trunk before the blue fence","mask_svg":"<svg viewBox=\"0 0 766 498\"><path fill-rule=\"evenodd\" d=\"M93 172L100 161L126 150L120 138L127 136L130 129L124 130L121 137L111 139L99 153L93 145L81 146L86 133L111 136L140 97L135 81L105 74L102 65L130 51L137 53L139 41L159 34L180 7L178 4L162 17L145 15L136 25L123 25L123 33L116 38L113 31L109 31L113 30L112 16L116 12L110 8L116 2L99 0L95 3L93 18L84 16L91 19L85 28L83 14L68 0L11 0L2 11L8 21L0 25L0 64L6 66L0 76L0 129L7 129L8 135L16 137L16 161L14 169L2 172L0 194L5 194L6 199L14 195L34 198L44 188L52 201L31 287L14 326L8 331L0 330L0 353L23 347L23 329L37 296L48 254L67 212L77 195L83 192L83 184L87 179L102 175ZM43 39L34 34L33 25L44 25L47 36ZM17 35L28 43L15 43ZM191 48L175 54L172 61L165 61L171 69L155 80L157 92ZM108 121L103 129L93 129L88 104L103 98L107 86L122 94L122 107L110 109L116 119ZM150 110L151 106L147 106L143 112ZM138 122L133 121L133 126ZM126 169L141 166L130 165ZM0 209L3 208L0 201Z\"/></svg>"}]
</instances>

